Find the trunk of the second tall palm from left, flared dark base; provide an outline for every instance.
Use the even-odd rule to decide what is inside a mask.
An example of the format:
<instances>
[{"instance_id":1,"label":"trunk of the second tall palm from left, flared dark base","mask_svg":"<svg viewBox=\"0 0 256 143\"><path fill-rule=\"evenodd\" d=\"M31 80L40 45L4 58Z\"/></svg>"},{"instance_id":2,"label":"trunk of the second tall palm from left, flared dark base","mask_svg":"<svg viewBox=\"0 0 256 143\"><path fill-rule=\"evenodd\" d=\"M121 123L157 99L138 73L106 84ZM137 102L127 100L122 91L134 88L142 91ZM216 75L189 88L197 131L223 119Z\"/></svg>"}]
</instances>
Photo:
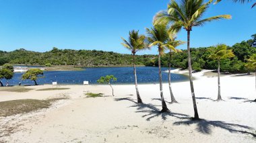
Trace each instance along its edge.
<instances>
[{"instance_id":1,"label":"trunk of the second tall palm from left, flared dark base","mask_svg":"<svg viewBox=\"0 0 256 143\"><path fill-rule=\"evenodd\" d=\"M162 101L162 110L161 112L170 111L164 101L164 94L162 92L162 71L161 71L161 48L158 48L158 68L159 68L159 85L160 85L160 96Z\"/></svg>"}]
</instances>

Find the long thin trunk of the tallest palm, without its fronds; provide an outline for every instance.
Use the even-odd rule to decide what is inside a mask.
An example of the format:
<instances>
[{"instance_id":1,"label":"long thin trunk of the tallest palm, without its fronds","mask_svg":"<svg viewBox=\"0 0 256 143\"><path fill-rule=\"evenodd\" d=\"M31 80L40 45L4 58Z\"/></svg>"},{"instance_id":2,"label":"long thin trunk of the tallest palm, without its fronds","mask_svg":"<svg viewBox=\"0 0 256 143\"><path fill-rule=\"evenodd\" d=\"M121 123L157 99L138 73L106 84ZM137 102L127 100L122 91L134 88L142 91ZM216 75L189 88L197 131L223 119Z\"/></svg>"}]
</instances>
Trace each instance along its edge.
<instances>
[{"instance_id":1,"label":"long thin trunk of the tallest palm, without its fronds","mask_svg":"<svg viewBox=\"0 0 256 143\"><path fill-rule=\"evenodd\" d=\"M195 112L194 119L199 120L199 115L197 112L197 103L195 101L194 85L193 85L193 81L192 81L191 54L190 54L190 47L189 47L190 31L191 30L187 30L187 55L188 55L188 63L189 63L189 82L190 82L191 95L192 95L193 107L194 107L194 112Z\"/></svg>"}]
</instances>

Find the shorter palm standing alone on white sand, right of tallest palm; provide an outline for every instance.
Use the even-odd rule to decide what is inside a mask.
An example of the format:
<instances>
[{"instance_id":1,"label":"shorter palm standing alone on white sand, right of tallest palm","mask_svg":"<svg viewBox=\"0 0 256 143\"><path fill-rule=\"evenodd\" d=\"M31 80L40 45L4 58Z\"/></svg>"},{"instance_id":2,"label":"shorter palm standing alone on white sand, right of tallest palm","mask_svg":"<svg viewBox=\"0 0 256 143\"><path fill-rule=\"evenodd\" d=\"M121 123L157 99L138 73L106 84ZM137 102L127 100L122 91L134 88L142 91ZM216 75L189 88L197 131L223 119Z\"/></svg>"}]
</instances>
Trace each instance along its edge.
<instances>
[{"instance_id":1,"label":"shorter palm standing alone on white sand, right of tallest palm","mask_svg":"<svg viewBox=\"0 0 256 143\"><path fill-rule=\"evenodd\" d=\"M232 58L234 57L234 54L232 50L227 50L225 44L220 44L216 46L216 48L211 49L212 54L210 54L209 58L212 58L213 60L218 61L218 99L217 101L222 100L222 97L220 95L220 60L225 58Z\"/></svg>"}]
</instances>

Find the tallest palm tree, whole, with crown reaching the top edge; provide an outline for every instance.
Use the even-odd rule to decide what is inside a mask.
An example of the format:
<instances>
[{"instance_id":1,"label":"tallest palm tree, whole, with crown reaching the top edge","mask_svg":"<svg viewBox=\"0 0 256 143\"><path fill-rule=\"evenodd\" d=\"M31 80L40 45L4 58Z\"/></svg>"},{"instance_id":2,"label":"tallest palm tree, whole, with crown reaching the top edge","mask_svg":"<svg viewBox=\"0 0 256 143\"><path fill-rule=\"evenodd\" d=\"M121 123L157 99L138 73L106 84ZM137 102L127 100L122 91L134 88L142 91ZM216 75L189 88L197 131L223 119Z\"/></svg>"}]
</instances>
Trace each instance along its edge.
<instances>
[{"instance_id":1,"label":"tallest palm tree, whole, with crown reaching the top edge","mask_svg":"<svg viewBox=\"0 0 256 143\"><path fill-rule=\"evenodd\" d=\"M189 66L189 81L191 86L191 95L193 99L194 107L194 119L198 120L199 115L197 112L197 104L195 102L195 91L192 81L192 68L191 68L191 54L190 54L190 32L195 26L203 26L206 22L214 21L218 19L230 19L230 15L218 15L214 17L208 17L202 19L203 14L209 8L212 0L207 3L203 3L203 0L181 0L181 3L177 3L172 0L168 3L168 9L158 12L154 17L154 23L168 23L171 24L170 32L179 32L181 28L187 31L187 54L188 54L188 66Z\"/></svg>"}]
</instances>

